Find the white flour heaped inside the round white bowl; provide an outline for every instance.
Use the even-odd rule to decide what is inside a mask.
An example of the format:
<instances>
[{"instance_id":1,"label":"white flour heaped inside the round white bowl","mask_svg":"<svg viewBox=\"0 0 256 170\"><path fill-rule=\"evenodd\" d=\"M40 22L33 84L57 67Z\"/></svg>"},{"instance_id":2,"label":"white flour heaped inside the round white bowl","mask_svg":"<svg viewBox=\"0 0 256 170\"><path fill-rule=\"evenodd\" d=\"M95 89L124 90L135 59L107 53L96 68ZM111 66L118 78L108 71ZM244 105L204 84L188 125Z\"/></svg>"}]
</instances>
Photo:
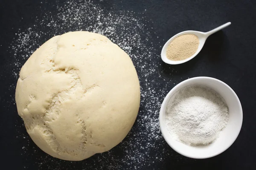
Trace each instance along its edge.
<instances>
[{"instance_id":1,"label":"white flour heaped inside the round white bowl","mask_svg":"<svg viewBox=\"0 0 256 170\"><path fill-rule=\"evenodd\" d=\"M172 137L188 145L212 143L229 118L224 99L212 89L188 86L177 91L166 107L166 126Z\"/></svg>"}]
</instances>

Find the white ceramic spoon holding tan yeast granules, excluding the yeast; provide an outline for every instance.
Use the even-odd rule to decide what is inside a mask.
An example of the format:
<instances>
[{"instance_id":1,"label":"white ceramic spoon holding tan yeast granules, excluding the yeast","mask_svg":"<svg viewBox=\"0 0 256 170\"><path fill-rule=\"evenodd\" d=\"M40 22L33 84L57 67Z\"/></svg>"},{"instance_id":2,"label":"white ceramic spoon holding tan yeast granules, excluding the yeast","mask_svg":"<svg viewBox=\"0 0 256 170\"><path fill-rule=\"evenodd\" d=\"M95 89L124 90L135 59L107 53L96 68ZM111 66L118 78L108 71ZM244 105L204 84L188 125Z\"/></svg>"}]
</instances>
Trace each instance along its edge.
<instances>
[{"instance_id":1,"label":"white ceramic spoon holding tan yeast granules, excluding the yeast","mask_svg":"<svg viewBox=\"0 0 256 170\"><path fill-rule=\"evenodd\" d=\"M184 62L187 62L189 61L190 59L194 58L200 51L201 49L203 48L204 46L204 42L206 41L206 39L213 33L229 26L231 23L228 22L228 23L225 23L223 24L222 26L219 26L211 31L208 31L208 32L200 32L200 31L183 31L183 32L180 32L179 34L176 34L175 36L173 36L170 40L168 40L165 45L163 45L163 49L161 51L161 58L163 60L163 62L167 63L167 64L172 64L172 65L175 65L175 64L181 64L181 63L184 63ZM166 50L167 50L167 47L169 45L170 42L172 42L172 40L174 40L175 38L179 37L180 35L183 35L183 34L195 34L198 39L199 39L199 45L198 45L198 50L195 52L194 55L192 55L191 57L187 58L187 59L184 59L184 60L180 60L180 61L173 61L173 60L170 60L166 57Z\"/></svg>"}]
</instances>

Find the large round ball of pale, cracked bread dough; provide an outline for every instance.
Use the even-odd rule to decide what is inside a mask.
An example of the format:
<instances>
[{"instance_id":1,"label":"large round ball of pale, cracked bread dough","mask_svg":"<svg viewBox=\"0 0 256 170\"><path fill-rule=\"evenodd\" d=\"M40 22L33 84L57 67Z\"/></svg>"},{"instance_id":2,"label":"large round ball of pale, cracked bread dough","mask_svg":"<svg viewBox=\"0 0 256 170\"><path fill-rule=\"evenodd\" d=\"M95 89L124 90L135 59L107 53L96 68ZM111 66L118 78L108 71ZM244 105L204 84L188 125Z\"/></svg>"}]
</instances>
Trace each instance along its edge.
<instances>
[{"instance_id":1,"label":"large round ball of pale, cracked bread dough","mask_svg":"<svg viewBox=\"0 0 256 170\"><path fill-rule=\"evenodd\" d=\"M131 129L140 84L130 57L87 31L52 37L20 71L18 114L35 144L70 161L110 150Z\"/></svg>"}]
</instances>

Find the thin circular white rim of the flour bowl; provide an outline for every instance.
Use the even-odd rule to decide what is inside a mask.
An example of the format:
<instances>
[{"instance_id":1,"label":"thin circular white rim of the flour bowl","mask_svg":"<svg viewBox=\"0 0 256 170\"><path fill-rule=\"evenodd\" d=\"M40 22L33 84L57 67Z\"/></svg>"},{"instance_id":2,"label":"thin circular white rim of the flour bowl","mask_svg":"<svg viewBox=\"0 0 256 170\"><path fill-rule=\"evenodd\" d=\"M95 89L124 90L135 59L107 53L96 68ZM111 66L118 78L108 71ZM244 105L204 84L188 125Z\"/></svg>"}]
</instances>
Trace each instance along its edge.
<instances>
[{"instance_id":1,"label":"thin circular white rim of the flour bowl","mask_svg":"<svg viewBox=\"0 0 256 170\"><path fill-rule=\"evenodd\" d=\"M213 80L213 81L216 81L218 83L221 83L222 85L226 86L234 95L234 97L236 98L236 100L238 101L239 103L239 113L240 113L240 119L241 119L241 123L239 126L239 131L237 132L236 134L236 137L232 140L232 142L230 142L230 144L227 145L227 147L225 147L223 150L220 150L218 152L215 152L214 154L211 154L211 155L208 155L208 156L191 156L190 154L187 154L187 153L183 153L183 152L180 152L177 148L175 148L173 145L172 145L172 142L170 142L171 140L168 139L167 137L167 134L165 132L163 132L163 129L164 127L164 124L166 123L165 122L165 108L166 108L166 105L167 105L167 102L169 101L169 99L171 98L171 96L174 94L174 91L176 91L177 88L179 88L181 85L183 84L186 84L187 82L190 82L192 80L196 80L196 79L207 79L207 80ZM207 158L211 158L213 156L217 156L219 155L220 153L223 153L225 150L227 150L237 139L240 131L241 131L241 127L242 127L242 122L243 122L243 111L242 111L242 106L241 106L241 102L238 98L238 96L236 95L235 91L233 91L232 88L230 88L229 85L227 85L226 83L222 82L221 80L219 79L215 79L215 78L212 78L212 77L193 77L193 78L189 78L189 79L186 79L180 83L178 83L177 85L175 85L174 88L172 88L169 93L166 95L166 97L164 98L163 102L162 102L162 105L161 105L161 108L160 108L160 112L159 112L159 125L160 125L160 131L163 135L163 138L165 139L165 141L167 142L167 144L172 147L173 150L175 150L177 153L180 153L181 155L183 156L186 156L186 157L189 157L189 158L193 158L193 159L207 159ZM165 128L166 129L166 128ZM168 130L167 130L168 132Z\"/></svg>"}]
</instances>

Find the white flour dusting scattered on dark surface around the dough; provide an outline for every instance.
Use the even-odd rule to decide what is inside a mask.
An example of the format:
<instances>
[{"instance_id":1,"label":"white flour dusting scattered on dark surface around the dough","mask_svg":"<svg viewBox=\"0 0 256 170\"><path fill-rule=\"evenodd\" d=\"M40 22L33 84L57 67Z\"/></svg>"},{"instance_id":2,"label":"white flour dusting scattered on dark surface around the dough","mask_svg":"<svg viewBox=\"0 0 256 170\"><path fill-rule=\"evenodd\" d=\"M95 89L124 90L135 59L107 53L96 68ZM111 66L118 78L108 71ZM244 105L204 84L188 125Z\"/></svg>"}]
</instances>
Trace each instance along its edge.
<instances>
[{"instance_id":1,"label":"white flour dusting scattered on dark surface around the dough","mask_svg":"<svg viewBox=\"0 0 256 170\"><path fill-rule=\"evenodd\" d=\"M21 133L23 131L20 129L25 129L25 127L21 126L23 121L18 119L15 126L20 136L17 138L26 136L23 141L25 148L21 150L24 150L24 154L26 151L28 164L31 164L31 158L35 159L32 164L36 164L38 170L63 168L70 170L78 169L78 167L98 170L136 170L147 169L156 162L161 164L160 162L170 154L170 149L160 133L159 110L164 96L175 83L160 74L161 68L158 67L161 64L161 47L157 36L154 37L155 43L151 42L152 36L156 34L148 26L152 21L148 21L144 14L116 10L115 6L105 8L101 1L68 0L60 3L57 0L57 5L51 7L53 8L51 11L54 12L47 10L46 6L51 6L47 3L47 1L41 3L39 9L41 16L36 17L35 22L29 25L29 28L17 30L9 46L13 78L18 79L22 65L49 38L69 31L92 31L105 35L129 54L140 79L141 104L131 132L121 144L109 152L96 154L90 159L79 162L54 159L44 154L39 148L35 148L28 134ZM13 84L9 88L13 94L15 94L15 86L16 84ZM14 95L12 98L14 99Z\"/></svg>"}]
</instances>

